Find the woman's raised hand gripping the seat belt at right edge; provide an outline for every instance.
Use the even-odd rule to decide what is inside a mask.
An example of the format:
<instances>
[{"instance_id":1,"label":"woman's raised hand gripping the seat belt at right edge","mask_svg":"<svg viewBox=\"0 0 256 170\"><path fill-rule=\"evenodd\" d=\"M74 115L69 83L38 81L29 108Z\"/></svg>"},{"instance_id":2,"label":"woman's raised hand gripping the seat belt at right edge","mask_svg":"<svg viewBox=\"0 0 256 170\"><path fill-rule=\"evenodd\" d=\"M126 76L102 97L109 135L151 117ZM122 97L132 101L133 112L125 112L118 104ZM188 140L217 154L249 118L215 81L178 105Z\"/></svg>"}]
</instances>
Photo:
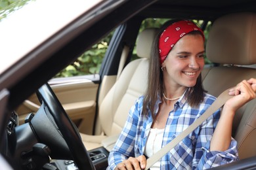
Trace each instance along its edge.
<instances>
[{"instance_id":1,"label":"woman's raised hand gripping the seat belt at right edge","mask_svg":"<svg viewBox=\"0 0 256 170\"><path fill-rule=\"evenodd\" d=\"M256 79L250 78L249 80L243 80L236 87L230 89L228 94L234 95L234 97L228 99L228 101L225 103L225 106L229 107L233 111L236 111L248 101L255 99L255 92Z\"/></svg>"}]
</instances>

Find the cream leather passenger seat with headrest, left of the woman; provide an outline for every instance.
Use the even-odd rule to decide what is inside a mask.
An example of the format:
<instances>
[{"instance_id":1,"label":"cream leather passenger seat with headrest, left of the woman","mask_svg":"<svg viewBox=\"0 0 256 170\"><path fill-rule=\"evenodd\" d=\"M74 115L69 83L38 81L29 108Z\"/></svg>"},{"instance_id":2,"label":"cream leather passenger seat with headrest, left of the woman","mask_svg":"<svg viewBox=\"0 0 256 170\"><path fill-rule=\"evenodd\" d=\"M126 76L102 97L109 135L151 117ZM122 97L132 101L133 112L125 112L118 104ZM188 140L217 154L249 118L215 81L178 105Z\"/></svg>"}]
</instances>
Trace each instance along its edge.
<instances>
[{"instance_id":1,"label":"cream leather passenger seat with headrest, left of the woman","mask_svg":"<svg viewBox=\"0 0 256 170\"><path fill-rule=\"evenodd\" d=\"M87 150L104 146L111 150L121 133L129 109L147 87L148 58L157 29L145 29L137 40L137 56L123 69L114 86L104 97L99 107L100 125L104 135L81 134Z\"/></svg>"}]
</instances>

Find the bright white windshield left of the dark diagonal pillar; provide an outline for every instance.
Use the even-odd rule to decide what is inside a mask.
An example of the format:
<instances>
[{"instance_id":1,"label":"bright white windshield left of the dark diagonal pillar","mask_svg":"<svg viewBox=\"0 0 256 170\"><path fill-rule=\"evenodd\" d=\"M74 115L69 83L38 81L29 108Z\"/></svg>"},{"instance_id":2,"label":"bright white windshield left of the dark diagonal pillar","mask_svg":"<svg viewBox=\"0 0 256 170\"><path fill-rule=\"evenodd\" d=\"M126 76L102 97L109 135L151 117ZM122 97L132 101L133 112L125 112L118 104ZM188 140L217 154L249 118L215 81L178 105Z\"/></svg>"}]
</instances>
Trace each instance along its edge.
<instances>
[{"instance_id":1,"label":"bright white windshield left of the dark diagonal pillar","mask_svg":"<svg viewBox=\"0 0 256 170\"><path fill-rule=\"evenodd\" d=\"M8 14L0 22L0 75L100 1L36 0Z\"/></svg>"}]
</instances>

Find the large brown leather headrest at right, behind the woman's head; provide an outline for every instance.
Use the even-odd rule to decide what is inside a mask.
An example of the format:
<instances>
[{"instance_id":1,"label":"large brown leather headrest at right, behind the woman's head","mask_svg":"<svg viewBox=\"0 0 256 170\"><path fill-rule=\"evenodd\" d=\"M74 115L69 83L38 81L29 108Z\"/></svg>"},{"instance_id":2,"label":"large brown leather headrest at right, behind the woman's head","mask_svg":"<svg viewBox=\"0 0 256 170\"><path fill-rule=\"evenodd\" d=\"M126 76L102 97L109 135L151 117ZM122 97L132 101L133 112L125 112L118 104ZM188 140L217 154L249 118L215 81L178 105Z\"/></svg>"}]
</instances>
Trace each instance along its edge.
<instances>
[{"instance_id":1,"label":"large brown leather headrest at right, behind the woman's head","mask_svg":"<svg viewBox=\"0 0 256 170\"><path fill-rule=\"evenodd\" d=\"M228 14L215 20L206 45L213 63L252 65L256 63L256 14Z\"/></svg>"}]
</instances>

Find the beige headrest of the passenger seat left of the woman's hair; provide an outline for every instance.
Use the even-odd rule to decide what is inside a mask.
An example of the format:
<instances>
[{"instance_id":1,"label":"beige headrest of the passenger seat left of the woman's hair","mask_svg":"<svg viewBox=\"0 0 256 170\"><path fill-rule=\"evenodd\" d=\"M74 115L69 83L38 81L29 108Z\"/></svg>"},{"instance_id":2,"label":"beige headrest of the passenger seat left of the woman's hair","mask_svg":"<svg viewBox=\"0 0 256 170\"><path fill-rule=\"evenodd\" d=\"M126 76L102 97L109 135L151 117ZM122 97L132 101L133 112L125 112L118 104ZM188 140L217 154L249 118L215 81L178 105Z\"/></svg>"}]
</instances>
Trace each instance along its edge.
<instances>
[{"instance_id":1,"label":"beige headrest of the passenger seat left of the woman's hair","mask_svg":"<svg viewBox=\"0 0 256 170\"><path fill-rule=\"evenodd\" d=\"M152 44L157 31L157 28L148 28L139 33L137 40L137 56L139 58L150 58Z\"/></svg>"}]
</instances>

